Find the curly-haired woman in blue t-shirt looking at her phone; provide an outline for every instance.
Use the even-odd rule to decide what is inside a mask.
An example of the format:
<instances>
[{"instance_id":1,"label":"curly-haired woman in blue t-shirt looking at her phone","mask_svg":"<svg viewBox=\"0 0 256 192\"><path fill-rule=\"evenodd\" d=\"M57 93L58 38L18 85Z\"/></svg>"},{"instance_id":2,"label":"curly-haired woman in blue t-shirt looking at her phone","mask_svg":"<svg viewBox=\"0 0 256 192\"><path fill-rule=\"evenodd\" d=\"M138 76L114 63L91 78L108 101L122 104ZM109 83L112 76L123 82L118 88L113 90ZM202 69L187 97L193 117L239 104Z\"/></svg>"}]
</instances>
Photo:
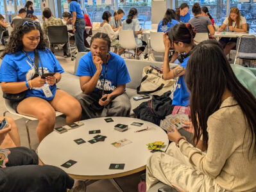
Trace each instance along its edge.
<instances>
[{"instance_id":1,"label":"curly-haired woman in blue t-shirt looking at her phone","mask_svg":"<svg viewBox=\"0 0 256 192\"><path fill-rule=\"evenodd\" d=\"M38 55L38 62L35 54ZM79 102L68 93L56 88L56 83L60 81L64 70L46 47L39 22L27 20L17 26L10 36L2 58L1 88L4 93L26 92L23 100L19 102L11 100L11 104L17 113L38 119L39 142L53 131L55 110L66 115L66 124L80 120ZM45 79L41 78L42 74L49 72L55 74Z\"/></svg>"}]
</instances>

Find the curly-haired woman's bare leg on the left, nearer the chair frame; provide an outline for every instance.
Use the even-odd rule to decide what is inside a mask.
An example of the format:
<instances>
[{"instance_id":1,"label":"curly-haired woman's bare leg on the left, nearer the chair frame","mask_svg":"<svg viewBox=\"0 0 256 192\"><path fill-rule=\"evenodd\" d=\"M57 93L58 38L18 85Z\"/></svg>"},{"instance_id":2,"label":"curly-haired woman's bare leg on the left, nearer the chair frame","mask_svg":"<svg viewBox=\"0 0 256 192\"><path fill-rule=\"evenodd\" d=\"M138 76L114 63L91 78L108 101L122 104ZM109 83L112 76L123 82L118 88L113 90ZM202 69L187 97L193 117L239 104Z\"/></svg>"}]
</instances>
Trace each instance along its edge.
<instances>
[{"instance_id":1,"label":"curly-haired woman's bare leg on the left, nearer the chair frame","mask_svg":"<svg viewBox=\"0 0 256 192\"><path fill-rule=\"evenodd\" d=\"M47 100L39 97L27 97L19 103L17 111L22 115L38 119L37 138L39 143L53 131L56 113Z\"/></svg>"}]
</instances>

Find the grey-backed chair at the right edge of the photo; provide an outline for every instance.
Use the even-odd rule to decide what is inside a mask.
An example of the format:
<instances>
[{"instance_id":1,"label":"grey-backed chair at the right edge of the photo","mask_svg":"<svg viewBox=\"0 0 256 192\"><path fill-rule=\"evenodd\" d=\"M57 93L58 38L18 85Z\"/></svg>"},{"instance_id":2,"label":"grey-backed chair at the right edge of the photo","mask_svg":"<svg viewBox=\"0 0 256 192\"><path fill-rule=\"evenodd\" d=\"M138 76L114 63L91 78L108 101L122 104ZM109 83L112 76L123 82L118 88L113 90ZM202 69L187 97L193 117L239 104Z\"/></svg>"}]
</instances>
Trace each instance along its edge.
<instances>
[{"instance_id":1,"label":"grey-backed chair at the right edge of the photo","mask_svg":"<svg viewBox=\"0 0 256 192\"><path fill-rule=\"evenodd\" d=\"M256 60L256 37L253 35L243 35L237 38L237 52L235 54L236 64L237 58L241 60L254 61Z\"/></svg>"}]
</instances>

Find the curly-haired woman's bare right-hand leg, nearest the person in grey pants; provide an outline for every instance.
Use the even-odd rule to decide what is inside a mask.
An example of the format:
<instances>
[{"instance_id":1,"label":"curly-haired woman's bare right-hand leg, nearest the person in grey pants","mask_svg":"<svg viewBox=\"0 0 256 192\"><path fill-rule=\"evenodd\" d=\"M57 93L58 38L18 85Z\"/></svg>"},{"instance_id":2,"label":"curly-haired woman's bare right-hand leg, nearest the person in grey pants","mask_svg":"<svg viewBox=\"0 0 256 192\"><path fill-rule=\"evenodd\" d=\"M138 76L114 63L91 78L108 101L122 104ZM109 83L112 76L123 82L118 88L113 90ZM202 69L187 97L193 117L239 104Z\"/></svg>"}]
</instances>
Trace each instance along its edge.
<instances>
[{"instance_id":1,"label":"curly-haired woman's bare right-hand leg, nearest the person in grey pants","mask_svg":"<svg viewBox=\"0 0 256 192\"><path fill-rule=\"evenodd\" d=\"M81 105L69 93L56 90L55 97L49 103L56 111L60 111L66 115L66 124L72 124L81 119Z\"/></svg>"}]
</instances>

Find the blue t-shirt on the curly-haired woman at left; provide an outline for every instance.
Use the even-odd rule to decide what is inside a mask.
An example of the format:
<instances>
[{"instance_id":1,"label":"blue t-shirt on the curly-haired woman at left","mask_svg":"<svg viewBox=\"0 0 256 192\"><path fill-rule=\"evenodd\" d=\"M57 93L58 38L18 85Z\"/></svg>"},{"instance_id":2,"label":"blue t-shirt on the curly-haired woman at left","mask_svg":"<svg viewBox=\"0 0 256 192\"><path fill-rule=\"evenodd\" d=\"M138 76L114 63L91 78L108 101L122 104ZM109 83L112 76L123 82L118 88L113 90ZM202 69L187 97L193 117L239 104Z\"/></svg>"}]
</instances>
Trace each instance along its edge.
<instances>
[{"instance_id":1,"label":"blue t-shirt on the curly-haired woman at left","mask_svg":"<svg viewBox=\"0 0 256 192\"><path fill-rule=\"evenodd\" d=\"M33 60L34 52L26 52L28 56ZM63 68L58 63L58 60L51 53L49 49L46 50L38 50L38 54L43 63L44 73L48 72L64 72ZM39 74L42 74L42 65L39 62ZM33 67L33 63L28 59L28 57L24 54L24 52L19 51L15 54L6 54L3 58L0 67L0 82L21 82L21 81L29 81L35 74L35 67ZM32 84L33 85L33 84ZM26 97L40 97L42 99L51 100L55 96L56 93L56 84L50 86L49 84L44 84L44 86L49 86L51 93L53 93L52 97L46 97L42 90L43 86L40 88L31 88L26 91Z\"/></svg>"}]
</instances>

